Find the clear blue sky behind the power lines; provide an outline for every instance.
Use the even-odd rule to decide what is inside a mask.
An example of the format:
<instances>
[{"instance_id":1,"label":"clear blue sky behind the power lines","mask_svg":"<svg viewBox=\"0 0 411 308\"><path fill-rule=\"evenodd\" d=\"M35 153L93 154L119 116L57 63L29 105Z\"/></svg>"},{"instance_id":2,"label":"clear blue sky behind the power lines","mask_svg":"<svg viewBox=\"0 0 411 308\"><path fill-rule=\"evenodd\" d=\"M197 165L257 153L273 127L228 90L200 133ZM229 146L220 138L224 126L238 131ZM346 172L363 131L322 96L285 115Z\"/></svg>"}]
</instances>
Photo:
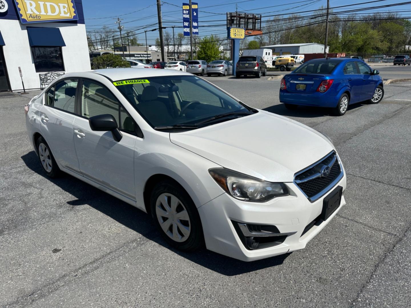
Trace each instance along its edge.
<instances>
[{"instance_id":1,"label":"clear blue sky behind the power lines","mask_svg":"<svg viewBox=\"0 0 411 308\"><path fill-rule=\"evenodd\" d=\"M405 2L405 0L381 0L379 2L358 5L358 3L368 2L371 0L330 0L330 7L341 5L351 5L350 7L335 9L335 11L344 12L347 9L361 7L376 7L381 5L396 4ZM162 2L163 26L175 26L175 33L182 32L182 2L176 0L166 0ZM184 1L188 2L188 1ZM88 31L99 31L103 25L115 29L115 19L122 18L122 25L125 31L134 30L136 33L144 30L157 28L157 5L156 0L136 1L122 0L113 5L112 0L83 0L83 9L85 15L85 24ZM319 9L327 5L327 0L275 0L265 2L261 0L198 0L199 4L199 36L217 34L224 37L226 28L224 27L226 12L246 11L263 16L272 16L275 14L311 14L306 11ZM287 10L284 8L287 7ZM279 9L282 9L281 11ZM364 12L375 11L401 11L402 16L411 16L411 5L401 5L388 7L384 9L372 9ZM408 12L407 12L408 11ZM362 13L362 12L361 12ZM272 18L272 17L270 17ZM263 21L267 20L264 18ZM204 27L207 25L207 27ZM203 26L203 27L202 27ZM171 28L168 28L171 32ZM158 31L147 32L148 44L153 45L155 38L158 37ZM139 42L144 43L144 33L138 35Z\"/></svg>"}]
</instances>

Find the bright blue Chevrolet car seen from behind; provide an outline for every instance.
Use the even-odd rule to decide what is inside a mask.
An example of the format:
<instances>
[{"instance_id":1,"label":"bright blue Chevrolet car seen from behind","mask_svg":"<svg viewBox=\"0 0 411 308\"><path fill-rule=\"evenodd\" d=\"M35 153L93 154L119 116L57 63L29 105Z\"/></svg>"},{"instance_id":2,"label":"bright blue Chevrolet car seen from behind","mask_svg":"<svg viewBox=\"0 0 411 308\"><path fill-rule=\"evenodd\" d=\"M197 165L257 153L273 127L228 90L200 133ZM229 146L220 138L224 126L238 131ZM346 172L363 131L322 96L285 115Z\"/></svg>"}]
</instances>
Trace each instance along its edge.
<instances>
[{"instance_id":1,"label":"bright blue Chevrolet car seen from behind","mask_svg":"<svg viewBox=\"0 0 411 308\"><path fill-rule=\"evenodd\" d=\"M285 75L280 85L280 102L286 108L298 105L330 107L344 115L349 104L384 96L383 79L364 61L350 58L314 59Z\"/></svg>"}]
</instances>

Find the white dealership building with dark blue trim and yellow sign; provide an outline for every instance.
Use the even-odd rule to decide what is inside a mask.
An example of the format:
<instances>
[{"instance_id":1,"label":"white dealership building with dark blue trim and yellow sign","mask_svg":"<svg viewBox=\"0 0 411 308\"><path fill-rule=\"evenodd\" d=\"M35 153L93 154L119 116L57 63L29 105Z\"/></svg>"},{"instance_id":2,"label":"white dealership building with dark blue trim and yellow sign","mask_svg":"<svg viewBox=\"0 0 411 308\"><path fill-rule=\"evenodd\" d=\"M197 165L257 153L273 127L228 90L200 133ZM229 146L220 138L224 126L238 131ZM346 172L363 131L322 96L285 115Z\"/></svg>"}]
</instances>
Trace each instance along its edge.
<instances>
[{"instance_id":1,"label":"white dealership building with dark blue trim and yellow sign","mask_svg":"<svg viewBox=\"0 0 411 308\"><path fill-rule=\"evenodd\" d=\"M0 91L90 69L81 0L0 0Z\"/></svg>"}]
</instances>

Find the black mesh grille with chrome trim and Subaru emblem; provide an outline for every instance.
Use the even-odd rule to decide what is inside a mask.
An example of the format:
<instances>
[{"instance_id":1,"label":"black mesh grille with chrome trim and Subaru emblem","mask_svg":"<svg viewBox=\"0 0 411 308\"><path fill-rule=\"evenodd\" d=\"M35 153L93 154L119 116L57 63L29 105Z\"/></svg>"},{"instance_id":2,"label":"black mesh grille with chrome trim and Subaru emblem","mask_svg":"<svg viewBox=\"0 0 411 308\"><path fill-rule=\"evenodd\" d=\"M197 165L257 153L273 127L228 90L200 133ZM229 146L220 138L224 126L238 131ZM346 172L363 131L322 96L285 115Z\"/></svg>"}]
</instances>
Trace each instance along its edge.
<instances>
[{"instance_id":1,"label":"black mesh grille with chrome trim and Subaru emblem","mask_svg":"<svg viewBox=\"0 0 411 308\"><path fill-rule=\"evenodd\" d=\"M330 168L329 174L326 176L321 175L324 166ZM333 151L320 161L297 172L294 183L311 202L314 202L335 186L343 175L337 154Z\"/></svg>"}]
</instances>

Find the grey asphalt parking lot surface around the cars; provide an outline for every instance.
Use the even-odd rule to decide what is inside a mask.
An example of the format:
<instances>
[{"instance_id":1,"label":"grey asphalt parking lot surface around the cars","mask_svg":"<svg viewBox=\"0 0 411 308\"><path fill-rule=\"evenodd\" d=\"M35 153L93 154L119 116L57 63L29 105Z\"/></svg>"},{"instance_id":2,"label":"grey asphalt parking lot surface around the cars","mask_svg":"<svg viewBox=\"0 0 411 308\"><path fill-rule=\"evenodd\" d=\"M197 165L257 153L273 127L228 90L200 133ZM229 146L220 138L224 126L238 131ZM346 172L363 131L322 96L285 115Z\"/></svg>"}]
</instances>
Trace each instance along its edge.
<instances>
[{"instance_id":1,"label":"grey asphalt parking lot surface around the cars","mask_svg":"<svg viewBox=\"0 0 411 308\"><path fill-rule=\"evenodd\" d=\"M0 307L409 307L411 82L336 117L287 110L279 79L205 79L330 136L348 174L346 206L288 255L181 253L147 214L71 176L46 178L23 113L38 92L2 93Z\"/></svg>"}]
</instances>

